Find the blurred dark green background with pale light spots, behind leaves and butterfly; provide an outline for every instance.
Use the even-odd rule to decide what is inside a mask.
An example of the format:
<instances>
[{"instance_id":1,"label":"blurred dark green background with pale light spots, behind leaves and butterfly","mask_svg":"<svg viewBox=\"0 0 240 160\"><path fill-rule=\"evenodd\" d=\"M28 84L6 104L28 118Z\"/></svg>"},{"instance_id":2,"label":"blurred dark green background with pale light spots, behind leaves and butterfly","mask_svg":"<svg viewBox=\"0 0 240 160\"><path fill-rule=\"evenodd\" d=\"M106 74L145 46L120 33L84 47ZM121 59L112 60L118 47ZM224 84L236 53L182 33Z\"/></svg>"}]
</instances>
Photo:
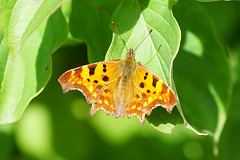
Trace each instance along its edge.
<instances>
[{"instance_id":1,"label":"blurred dark green background with pale light spots, behind leaves and butterfly","mask_svg":"<svg viewBox=\"0 0 240 160\"><path fill-rule=\"evenodd\" d=\"M212 18L219 38L227 44L233 64L238 66L240 3L201 5ZM233 102L229 109L219 156L214 157L210 136L198 136L183 125L168 135L148 123L140 126L136 117L116 120L104 111L91 117L90 105L80 92L64 95L57 79L76 64L88 63L84 44L68 40L53 54L52 62L49 83L30 102L22 119L0 126L0 159L240 159L239 102ZM234 78L238 80L238 74ZM238 85L234 92L239 89Z\"/></svg>"}]
</instances>

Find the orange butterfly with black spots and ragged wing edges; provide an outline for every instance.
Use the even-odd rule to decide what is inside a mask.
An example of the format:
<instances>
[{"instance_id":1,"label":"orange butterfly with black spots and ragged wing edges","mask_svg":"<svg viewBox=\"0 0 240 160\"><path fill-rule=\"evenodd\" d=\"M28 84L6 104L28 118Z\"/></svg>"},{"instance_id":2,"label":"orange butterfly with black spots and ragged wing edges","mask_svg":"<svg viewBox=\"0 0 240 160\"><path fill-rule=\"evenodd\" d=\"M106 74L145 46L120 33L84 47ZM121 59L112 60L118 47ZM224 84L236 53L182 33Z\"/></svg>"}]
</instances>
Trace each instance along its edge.
<instances>
[{"instance_id":1,"label":"orange butterfly with black spots and ragged wing edges","mask_svg":"<svg viewBox=\"0 0 240 160\"><path fill-rule=\"evenodd\" d=\"M77 67L63 73L58 81L64 93L69 90L83 93L87 103L92 104L91 116L98 110L116 118L136 115L143 125L145 114L150 115L156 107L162 106L171 113L177 104L173 90L136 62L133 48L128 50L125 59Z\"/></svg>"}]
</instances>

